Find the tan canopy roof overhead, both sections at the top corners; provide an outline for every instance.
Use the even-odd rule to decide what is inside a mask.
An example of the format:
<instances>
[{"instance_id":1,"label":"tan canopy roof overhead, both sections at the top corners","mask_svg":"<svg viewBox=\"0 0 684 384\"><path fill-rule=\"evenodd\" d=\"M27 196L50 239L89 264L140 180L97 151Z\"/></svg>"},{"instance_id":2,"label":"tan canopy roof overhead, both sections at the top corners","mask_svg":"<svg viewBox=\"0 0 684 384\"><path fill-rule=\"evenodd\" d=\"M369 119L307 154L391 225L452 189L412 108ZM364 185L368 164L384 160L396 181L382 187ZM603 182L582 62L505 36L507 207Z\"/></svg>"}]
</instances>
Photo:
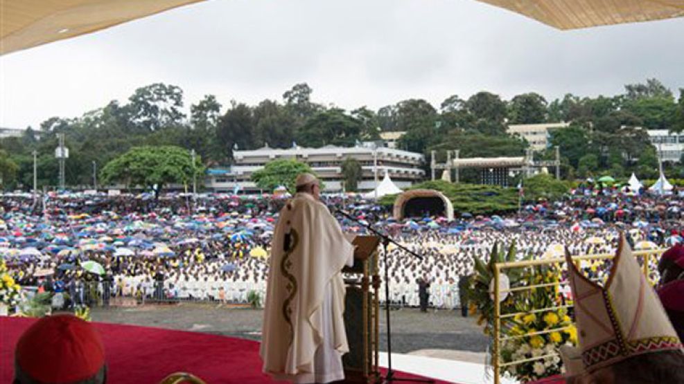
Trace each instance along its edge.
<instances>
[{"instance_id":1,"label":"tan canopy roof overhead, both sections at the top corners","mask_svg":"<svg viewBox=\"0 0 684 384\"><path fill-rule=\"evenodd\" d=\"M204 0L0 0L0 55ZM684 0L480 0L559 29L684 16Z\"/></svg>"}]
</instances>

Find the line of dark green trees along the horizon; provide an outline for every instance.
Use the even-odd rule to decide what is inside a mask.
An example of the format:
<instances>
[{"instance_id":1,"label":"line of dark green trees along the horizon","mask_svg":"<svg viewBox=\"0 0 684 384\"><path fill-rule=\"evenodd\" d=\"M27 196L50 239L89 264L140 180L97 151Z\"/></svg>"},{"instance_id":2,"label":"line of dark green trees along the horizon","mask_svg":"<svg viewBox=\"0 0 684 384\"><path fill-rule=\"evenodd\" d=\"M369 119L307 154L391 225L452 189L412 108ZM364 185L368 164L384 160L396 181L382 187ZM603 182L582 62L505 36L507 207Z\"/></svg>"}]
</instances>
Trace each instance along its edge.
<instances>
[{"instance_id":1,"label":"line of dark green trees along the horizon","mask_svg":"<svg viewBox=\"0 0 684 384\"><path fill-rule=\"evenodd\" d=\"M550 140L561 148L565 178L606 172L620 177L632 171L652 177L656 148L639 128L684 131L684 89L675 95L656 79L627 84L619 95L596 98L568 93L549 102L530 92L505 100L480 91L468 98L451 95L437 107L415 98L378 110L361 106L347 111L313 101L312 93L301 83L284 92L281 100L256 105L231 100L227 106L216 95L205 95L186 114L178 86L143 86L125 102L114 100L76 118L49 118L40 127L28 127L24 136L0 140L3 188L31 188L34 150L39 186L57 185L54 152L59 133L65 134L70 149L67 185L87 186L92 184L93 163L101 169L139 146L195 149L204 167L219 167L231 163L235 149L295 143L351 146L378 140L383 131L405 131L398 147L412 152L459 149L462 157L520 156L529 145L507 134L507 125L560 121L570 122L570 127L552 131ZM552 158L553 152L536 156ZM667 172L681 177L683 170L667 165ZM466 181L475 177L462 174Z\"/></svg>"}]
</instances>

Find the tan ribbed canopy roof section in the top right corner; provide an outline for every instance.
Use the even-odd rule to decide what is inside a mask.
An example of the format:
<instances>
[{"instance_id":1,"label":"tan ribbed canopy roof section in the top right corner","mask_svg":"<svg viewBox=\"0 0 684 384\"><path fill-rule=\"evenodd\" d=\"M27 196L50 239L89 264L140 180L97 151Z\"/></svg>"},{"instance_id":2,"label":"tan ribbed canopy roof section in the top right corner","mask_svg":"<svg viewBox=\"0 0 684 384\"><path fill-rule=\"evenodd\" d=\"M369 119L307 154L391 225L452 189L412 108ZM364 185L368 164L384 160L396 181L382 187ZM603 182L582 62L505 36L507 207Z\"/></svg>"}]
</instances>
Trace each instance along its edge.
<instances>
[{"instance_id":1,"label":"tan ribbed canopy roof section in the top right corner","mask_svg":"<svg viewBox=\"0 0 684 384\"><path fill-rule=\"evenodd\" d=\"M480 0L558 29L684 16L684 0Z\"/></svg>"}]
</instances>

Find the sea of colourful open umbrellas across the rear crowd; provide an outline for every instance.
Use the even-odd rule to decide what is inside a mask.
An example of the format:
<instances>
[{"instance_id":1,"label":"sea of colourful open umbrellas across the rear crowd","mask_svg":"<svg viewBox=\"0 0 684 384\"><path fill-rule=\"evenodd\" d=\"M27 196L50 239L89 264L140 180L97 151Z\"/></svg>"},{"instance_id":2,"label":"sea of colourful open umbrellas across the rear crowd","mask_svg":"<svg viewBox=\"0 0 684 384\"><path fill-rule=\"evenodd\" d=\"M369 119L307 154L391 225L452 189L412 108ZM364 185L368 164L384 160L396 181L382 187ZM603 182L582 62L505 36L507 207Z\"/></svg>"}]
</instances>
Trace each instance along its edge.
<instances>
[{"instance_id":1,"label":"sea of colourful open umbrellas across the rear crowd","mask_svg":"<svg viewBox=\"0 0 684 384\"><path fill-rule=\"evenodd\" d=\"M432 232L459 235L450 246L477 245L477 232L525 231L568 228L580 232L605 227L638 232L646 241L641 248L667 246L682 241L679 196L597 196L578 191L564 201L523 205L507 217L459 212L448 221L426 213L397 221L389 208L358 196L327 196L325 202L344 208L358 219L339 217L344 230L365 233L371 223L392 235ZM83 268L103 273L103 266L89 262L90 255L168 259L187 248L220 244L240 255L268 257L270 239L283 199L270 196L205 194L195 201L168 195L152 201L150 195L84 196L52 195L41 210L30 195L2 196L0 257L9 266L50 260L58 270ZM475 234L471 237L462 234ZM595 240L599 241L599 240ZM230 252L229 252L230 253ZM231 268L227 264L226 268Z\"/></svg>"}]
</instances>

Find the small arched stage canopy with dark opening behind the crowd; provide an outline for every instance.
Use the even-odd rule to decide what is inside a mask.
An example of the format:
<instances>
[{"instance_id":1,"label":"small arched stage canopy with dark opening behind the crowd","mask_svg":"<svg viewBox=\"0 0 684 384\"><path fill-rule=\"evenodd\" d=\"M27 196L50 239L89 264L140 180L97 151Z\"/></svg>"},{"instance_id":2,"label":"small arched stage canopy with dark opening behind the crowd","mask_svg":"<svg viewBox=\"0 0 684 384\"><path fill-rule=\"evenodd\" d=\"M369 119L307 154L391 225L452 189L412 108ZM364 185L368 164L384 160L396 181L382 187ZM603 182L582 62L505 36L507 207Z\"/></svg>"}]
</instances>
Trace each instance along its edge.
<instances>
[{"instance_id":1,"label":"small arched stage canopy with dark opening behind the crowd","mask_svg":"<svg viewBox=\"0 0 684 384\"><path fill-rule=\"evenodd\" d=\"M454 219L454 205L444 194L436 190L410 190L394 201L394 219L441 215Z\"/></svg>"}]
</instances>

